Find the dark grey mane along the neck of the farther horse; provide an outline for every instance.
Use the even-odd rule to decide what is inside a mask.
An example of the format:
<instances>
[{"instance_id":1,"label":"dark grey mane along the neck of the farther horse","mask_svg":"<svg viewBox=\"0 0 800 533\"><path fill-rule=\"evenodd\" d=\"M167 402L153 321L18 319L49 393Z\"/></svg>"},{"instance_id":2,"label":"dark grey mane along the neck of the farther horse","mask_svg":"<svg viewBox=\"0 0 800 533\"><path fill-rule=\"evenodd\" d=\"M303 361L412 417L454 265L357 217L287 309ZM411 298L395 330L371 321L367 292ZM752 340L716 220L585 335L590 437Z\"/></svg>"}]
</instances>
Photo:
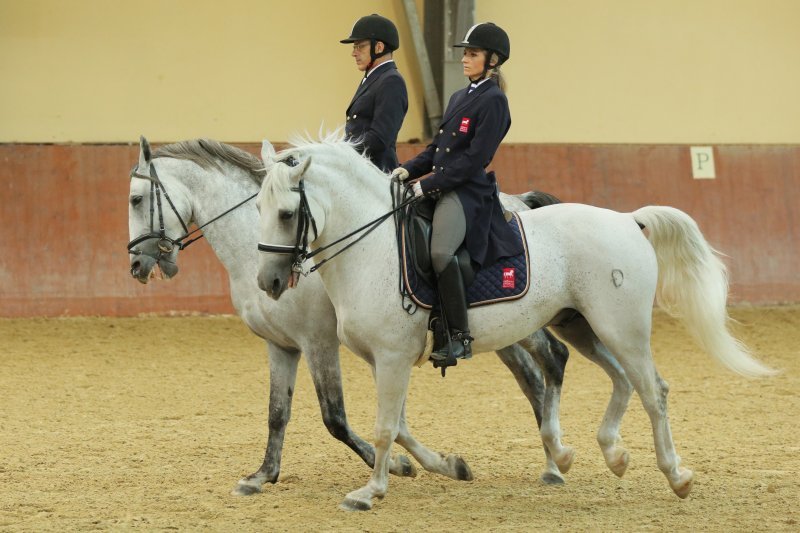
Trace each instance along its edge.
<instances>
[{"instance_id":1,"label":"dark grey mane along the neck of the farther horse","mask_svg":"<svg viewBox=\"0 0 800 533\"><path fill-rule=\"evenodd\" d=\"M219 161L225 161L249 173L259 185L266 175L264 164L259 158L235 146L212 139L193 139L161 146L153 153L153 158L171 157L184 159L209 170L222 170Z\"/></svg>"}]
</instances>

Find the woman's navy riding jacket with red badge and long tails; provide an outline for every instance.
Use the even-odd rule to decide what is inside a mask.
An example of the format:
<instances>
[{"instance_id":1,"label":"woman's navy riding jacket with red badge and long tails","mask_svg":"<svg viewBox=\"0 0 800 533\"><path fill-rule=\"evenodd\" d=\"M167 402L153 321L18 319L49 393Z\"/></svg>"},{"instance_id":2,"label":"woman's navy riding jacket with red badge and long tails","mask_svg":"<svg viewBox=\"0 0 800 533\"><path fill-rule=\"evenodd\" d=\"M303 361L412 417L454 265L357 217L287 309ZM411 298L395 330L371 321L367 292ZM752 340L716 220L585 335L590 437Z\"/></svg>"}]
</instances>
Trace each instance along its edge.
<instances>
[{"instance_id":1,"label":"woman's navy riding jacket with red badge and long tails","mask_svg":"<svg viewBox=\"0 0 800 533\"><path fill-rule=\"evenodd\" d=\"M467 222L465 243L481 267L522 253L522 245L503 217L494 172L486 172L511 127L508 99L490 79L472 93L469 87L450 97L439 132L431 144L403 164L426 195L456 191Z\"/></svg>"}]
</instances>

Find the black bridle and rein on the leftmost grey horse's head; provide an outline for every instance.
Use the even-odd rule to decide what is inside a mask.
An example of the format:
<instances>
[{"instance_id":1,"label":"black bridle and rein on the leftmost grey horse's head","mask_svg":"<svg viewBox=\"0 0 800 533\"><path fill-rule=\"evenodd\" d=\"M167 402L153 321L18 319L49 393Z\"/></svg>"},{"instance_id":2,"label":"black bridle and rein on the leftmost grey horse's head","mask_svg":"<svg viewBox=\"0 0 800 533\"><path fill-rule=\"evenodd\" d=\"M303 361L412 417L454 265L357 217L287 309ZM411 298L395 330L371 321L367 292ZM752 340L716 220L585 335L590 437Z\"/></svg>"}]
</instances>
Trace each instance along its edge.
<instances>
[{"instance_id":1,"label":"black bridle and rein on the leftmost grey horse's head","mask_svg":"<svg viewBox=\"0 0 800 533\"><path fill-rule=\"evenodd\" d=\"M150 232L139 235L138 237L130 241L128 243L128 253L132 255L141 255L143 253L142 250L138 250L136 249L136 247L145 241L156 239L158 241L156 243L156 247L158 249L158 256L155 257L156 260L160 260L161 257L165 254L171 254L173 250L175 250L175 247L177 247L178 250L183 250L184 248L192 244L194 241L202 239L204 237L204 234L201 233L198 236L194 237L193 239L189 239L188 241L186 240L195 233L199 232L200 230L208 226L209 224L211 224L212 222L219 220L220 218L224 217L234 209L241 207L245 203L249 202L256 196L258 196L258 193L256 193L253 194L252 196L245 198L244 200L242 200L235 206L231 207L230 209L226 210L222 214L215 216L205 224L198 226L192 231L189 231L188 225L186 224L186 222L184 222L183 217L181 217L180 213L178 213L178 210L175 208L175 204L172 203L172 199L169 197L167 189L164 187L164 184L161 182L161 180L158 179L158 172L156 172L156 166L154 163L152 162L150 163L149 176L140 174L139 165L136 165L131 170L130 177L140 178L148 180L150 182ZM178 237L177 239L168 237L166 230L164 228L164 212L162 209L162 202L161 202L162 195L167 200L167 203L169 204L169 207L172 210L172 212L175 214L176 217L178 217L178 221L181 223L181 227L183 228L184 234ZM158 231L156 231L155 229L156 207L158 207Z\"/></svg>"}]
</instances>

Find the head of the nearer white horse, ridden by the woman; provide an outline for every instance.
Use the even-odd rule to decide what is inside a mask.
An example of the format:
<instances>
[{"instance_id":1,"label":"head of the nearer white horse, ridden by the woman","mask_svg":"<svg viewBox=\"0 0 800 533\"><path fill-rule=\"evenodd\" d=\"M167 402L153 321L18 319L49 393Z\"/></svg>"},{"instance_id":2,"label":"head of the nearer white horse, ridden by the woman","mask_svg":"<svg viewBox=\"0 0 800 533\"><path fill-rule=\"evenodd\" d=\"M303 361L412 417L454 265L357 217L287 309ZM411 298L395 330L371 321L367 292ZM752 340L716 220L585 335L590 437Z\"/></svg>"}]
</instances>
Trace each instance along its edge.
<instances>
[{"instance_id":1,"label":"head of the nearer white horse, ridden by the woman","mask_svg":"<svg viewBox=\"0 0 800 533\"><path fill-rule=\"evenodd\" d=\"M259 235L261 252L258 286L278 299L297 286L308 246L317 239L325 223L321 205L305 183L311 157L294 153L276 154L265 142L262 158L267 176L261 185L256 206L261 214ZM268 244L267 244L268 243Z\"/></svg>"}]
</instances>

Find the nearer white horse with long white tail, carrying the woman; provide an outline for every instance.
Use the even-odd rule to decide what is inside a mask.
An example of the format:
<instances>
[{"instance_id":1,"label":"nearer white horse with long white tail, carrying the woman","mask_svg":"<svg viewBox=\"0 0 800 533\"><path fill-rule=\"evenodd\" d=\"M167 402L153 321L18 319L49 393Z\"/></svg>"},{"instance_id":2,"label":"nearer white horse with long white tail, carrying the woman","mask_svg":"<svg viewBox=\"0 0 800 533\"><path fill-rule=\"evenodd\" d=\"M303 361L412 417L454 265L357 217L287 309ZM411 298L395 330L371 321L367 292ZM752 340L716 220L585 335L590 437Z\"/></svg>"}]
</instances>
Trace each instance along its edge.
<instances>
[{"instance_id":1,"label":"nearer white horse with long white tail, carrying the woman","mask_svg":"<svg viewBox=\"0 0 800 533\"><path fill-rule=\"evenodd\" d=\"M340 136L295 146L265 158L268 174L257 199L260 248L300 247L298 223L305 223L316 226L316 235L308 234L310 244L323 249L391 209L386 176ZM520 218L531 250L531 289L521 299L470 310L474 351L496 350L555 323L582 353L613 354L650 417L658 467L675 494L685 498L693 473L675 452L668 386L650 352L654 298L728 368L748 376L773 372L728 332L723 264L695 222L670 207L617 213L558 204L522 212ZM647 237L638 224L647 228ZM400 306L393 231L390 224L378 227L319 270L336 309L339 338L375 366L375 467L369 482L345 497L342 507L348 510L370 509L373 498L386 494L390 447L396 439L403 443L410 372L425 343L427 316L408 316ZM329 256L325 250L317 257ZM288 287L302 286L297 273L302 258L293 252L263 254L259 286L274 299ZM625 394L620 393L623 399ZM627 466L626 452L613 442L624 408L609 405L611 420L604 421L609 433L601 428L598 435L612 441L601 442L609 466L622 455Z\"/></svg>"}]
</instances>

